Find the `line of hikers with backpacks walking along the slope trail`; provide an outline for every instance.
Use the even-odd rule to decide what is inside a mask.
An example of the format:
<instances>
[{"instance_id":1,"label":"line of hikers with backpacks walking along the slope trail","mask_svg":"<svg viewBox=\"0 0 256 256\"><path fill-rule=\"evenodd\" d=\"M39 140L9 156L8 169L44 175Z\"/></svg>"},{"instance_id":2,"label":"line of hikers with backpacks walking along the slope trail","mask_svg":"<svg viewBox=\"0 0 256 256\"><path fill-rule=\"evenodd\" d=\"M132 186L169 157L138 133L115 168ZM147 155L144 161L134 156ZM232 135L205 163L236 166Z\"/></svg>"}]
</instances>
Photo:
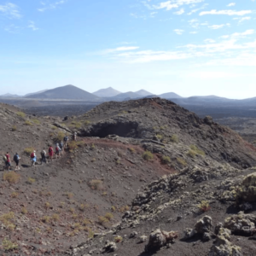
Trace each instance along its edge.
<instances>
[{"instance_id":1,"label":"line of hikers with backpacks walking along the slope trail","mask_svg":"<svg viewBox=\"0 0 256 256\"><path fill-rule=\"evenodd\" d=\"M62 154L64 154L64 150L65 148L68 147L68 140L69 138L67 137L67 135L63 138L63 140L60 143L56 143L55 144L55 149L52 145L49 145L48 148L48 154L49 154L49 160L53 160L54 159L54 155L55 158L60 158ZM77 140L77 133L74 132L73 133L73 140L76 141ZM36 165L37 162L37 154L36 154L36 150L33 150L32 153L30 154L30 159L32 162L32 166ZM47 164L47 153L46 153L46 148L43 148L43 150L41 151L41 165L43 165L43 162L45 164ZM16 153L14 155L14 161L15 161L15 172L20 170L20 156L18 153ZM10 160L10 154L9 152L7 152L6 154L3 155L3 160L5 162L5 168L7 171L10 171L10 167L11 167L11 160Z\"/></svg>"}]
</instances>

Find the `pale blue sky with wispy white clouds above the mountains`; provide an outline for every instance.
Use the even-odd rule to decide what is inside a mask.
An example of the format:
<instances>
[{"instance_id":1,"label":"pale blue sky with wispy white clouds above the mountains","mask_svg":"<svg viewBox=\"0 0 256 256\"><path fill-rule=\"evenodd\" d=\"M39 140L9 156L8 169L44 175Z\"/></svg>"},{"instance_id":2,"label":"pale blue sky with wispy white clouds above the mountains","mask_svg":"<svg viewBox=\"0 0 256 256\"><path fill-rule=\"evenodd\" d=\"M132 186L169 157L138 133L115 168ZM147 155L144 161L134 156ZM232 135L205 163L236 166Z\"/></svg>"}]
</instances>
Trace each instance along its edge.
<instances>
[{"instance_id":1,"label":"pale blue sky with wispy white clouds above the mountains","mask_svg":"<svg viewBox=\"0 0 256 256\"><path fill-rule=\"evenodd\" d=\"M255 0L0 0L0 95L256 96Z\"/></svg>"}]
</instances>

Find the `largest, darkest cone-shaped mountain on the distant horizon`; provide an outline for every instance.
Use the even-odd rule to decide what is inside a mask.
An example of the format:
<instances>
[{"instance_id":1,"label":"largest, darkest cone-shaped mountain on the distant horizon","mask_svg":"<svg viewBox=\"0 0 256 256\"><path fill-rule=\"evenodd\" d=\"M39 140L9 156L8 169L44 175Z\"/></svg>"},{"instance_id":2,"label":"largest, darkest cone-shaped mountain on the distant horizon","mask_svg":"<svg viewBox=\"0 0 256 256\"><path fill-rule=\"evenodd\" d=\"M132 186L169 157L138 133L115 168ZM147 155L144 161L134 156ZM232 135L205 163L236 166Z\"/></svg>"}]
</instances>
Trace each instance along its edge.
<instances>
[{"instance_id":1,"label":"largest, darkest cone-shaped mountain on the distant horizon","mask_svg":"<svg viewBox=\"0 0 256 256\"><path fill-rule=\"evenodd\" d=\"M44 92L34 94L32 96L26 96L25 98L36 98L36 99L67 99L67 100L86 100L86 101L95 101L99 100L98 96L94 94L79 89L73 85L65 85L57 87L52 90L46 90Z\"/></svg>"}]
</instances>

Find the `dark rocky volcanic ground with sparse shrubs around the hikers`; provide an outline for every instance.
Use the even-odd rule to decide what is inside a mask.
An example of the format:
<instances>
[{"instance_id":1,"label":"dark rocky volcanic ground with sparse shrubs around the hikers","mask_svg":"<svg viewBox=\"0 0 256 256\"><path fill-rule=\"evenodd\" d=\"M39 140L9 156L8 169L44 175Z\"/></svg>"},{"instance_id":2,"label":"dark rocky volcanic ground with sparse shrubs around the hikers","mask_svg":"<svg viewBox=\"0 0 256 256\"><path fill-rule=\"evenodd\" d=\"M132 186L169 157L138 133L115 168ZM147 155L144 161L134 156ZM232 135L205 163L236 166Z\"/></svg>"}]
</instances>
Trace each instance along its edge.
<instances>
[{"instance_id":1,"label":"dark rocky volcanic ground with sparse shrubs around the hikers","mask_svg":"<svg viewBox=\"0 0 256 256\"><path fill-rule=\"evenodd\" d=\"M18 176L2 172L2 254L254 255L256 148L210 117L160 99L0 117L1 153L21 156ZM28 148L73 131L60 159L31 166Z\"/></svg>"}]
</instances>

